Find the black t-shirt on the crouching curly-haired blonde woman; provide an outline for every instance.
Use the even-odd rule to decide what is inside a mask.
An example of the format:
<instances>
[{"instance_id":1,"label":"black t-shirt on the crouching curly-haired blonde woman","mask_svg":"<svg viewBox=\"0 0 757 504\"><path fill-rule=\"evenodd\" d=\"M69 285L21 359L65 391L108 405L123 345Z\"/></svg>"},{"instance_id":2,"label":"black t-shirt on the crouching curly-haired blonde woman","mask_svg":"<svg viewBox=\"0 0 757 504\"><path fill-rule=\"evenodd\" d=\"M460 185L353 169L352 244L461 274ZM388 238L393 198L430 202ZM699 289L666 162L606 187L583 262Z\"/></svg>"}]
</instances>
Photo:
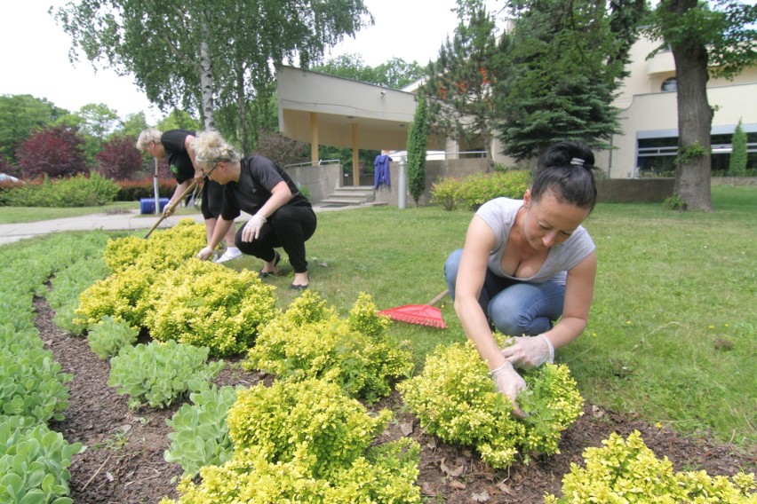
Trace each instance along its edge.
<instances>
[{"instance_id":1,"label":"black t-shirt on the crouching curly-haired blonde woman","mask_svg":"<svg viewBox=\"0 0 757 504\"><path fill-rule=\"evenodd\" d=\"M287 205L310 206L291 177L274 161L264 156L250 156L243 158L240 165L242 173L239 182L224 185L221 217L225 220L234 220L242 211L255 215L270 199L274 186L282 180L289 186L292 195Z\"/></svg>"}]
</instances>

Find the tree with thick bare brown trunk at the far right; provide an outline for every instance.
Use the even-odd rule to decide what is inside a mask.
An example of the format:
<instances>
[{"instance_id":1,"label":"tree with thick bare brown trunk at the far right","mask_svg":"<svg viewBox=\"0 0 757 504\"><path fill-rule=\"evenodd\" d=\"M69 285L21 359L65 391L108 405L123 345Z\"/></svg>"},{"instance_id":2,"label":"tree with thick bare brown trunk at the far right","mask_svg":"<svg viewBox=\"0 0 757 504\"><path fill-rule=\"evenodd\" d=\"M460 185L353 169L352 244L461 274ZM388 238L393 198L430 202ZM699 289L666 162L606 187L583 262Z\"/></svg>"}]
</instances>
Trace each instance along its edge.
<instances>
[{"instance_id":1,"label":"tree with thick bare brown trunk at the far right","mask_svg":"<svg viewBox=\"0 0 757 504\"><path fill-rule=\"evenodd\" d=\"M757 4L661 0L648 33L673 51L678 101L678 166L673 192L686 209L712 211L713 108L710 75L733 78L757 62Z\"/></svg>"}]
</instances>

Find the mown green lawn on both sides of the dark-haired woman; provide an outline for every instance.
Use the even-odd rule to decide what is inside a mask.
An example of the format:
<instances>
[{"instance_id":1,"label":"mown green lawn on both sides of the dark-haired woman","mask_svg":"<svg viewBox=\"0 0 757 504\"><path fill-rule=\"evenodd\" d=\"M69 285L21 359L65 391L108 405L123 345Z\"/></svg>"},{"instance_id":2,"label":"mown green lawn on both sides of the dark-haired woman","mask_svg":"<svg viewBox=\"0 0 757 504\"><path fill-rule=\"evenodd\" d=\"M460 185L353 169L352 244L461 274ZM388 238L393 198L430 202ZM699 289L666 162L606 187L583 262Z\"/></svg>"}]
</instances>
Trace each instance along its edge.
<instances>
[{"instance_id":1,"label":"mown green lawn on both sides of the dark-haired woman","mask_svg":"<svg viewBox=\"0 0 757 504\"><path fill-rule=\"evenodd\" d=\"M592 404L753 449L757 187L713 186L713 207L598 205L586 221L599 255L592 318L557 359ZM362 291L379 309L427 303L445 288L444 260L462 246L471 215L439 207L320 213L307 243L311 287L343 314ZM291 267L282 267L287 274L266 281L285 307L297 293L287 288ZM465 339L449 298L441 308L446 330L393 325L412 342L418 368L436 345Z\"/></svg>"}]
</instances>

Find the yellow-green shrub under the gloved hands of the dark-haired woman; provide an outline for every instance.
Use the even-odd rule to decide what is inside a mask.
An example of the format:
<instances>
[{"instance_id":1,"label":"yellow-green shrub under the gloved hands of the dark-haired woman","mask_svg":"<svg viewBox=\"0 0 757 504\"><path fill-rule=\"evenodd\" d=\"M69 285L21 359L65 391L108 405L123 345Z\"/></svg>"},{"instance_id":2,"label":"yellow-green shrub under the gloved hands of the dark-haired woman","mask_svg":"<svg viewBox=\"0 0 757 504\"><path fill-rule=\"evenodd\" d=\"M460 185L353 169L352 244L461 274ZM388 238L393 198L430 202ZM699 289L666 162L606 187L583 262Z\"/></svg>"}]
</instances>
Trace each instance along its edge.
<instances>
[{"instance_id":1,"label":"yellow-green shrub under the gloved hands of the dark-haired woman","mask_svg":"<svg viewBox=\"0 0 757 504\"><path fill-rule=\"evenodd\" d=\"M525 421L510 415L511 404L494 389L469 341L434 350L423 373L397 390L426 432L472 445L491 467L506 468L519 453L525 460L532 452L558 453L562 431L582 413L583 398L567 366L546 365L522 375L529 385L519 397L529 415Z\"/></svg>"}]
</instances>

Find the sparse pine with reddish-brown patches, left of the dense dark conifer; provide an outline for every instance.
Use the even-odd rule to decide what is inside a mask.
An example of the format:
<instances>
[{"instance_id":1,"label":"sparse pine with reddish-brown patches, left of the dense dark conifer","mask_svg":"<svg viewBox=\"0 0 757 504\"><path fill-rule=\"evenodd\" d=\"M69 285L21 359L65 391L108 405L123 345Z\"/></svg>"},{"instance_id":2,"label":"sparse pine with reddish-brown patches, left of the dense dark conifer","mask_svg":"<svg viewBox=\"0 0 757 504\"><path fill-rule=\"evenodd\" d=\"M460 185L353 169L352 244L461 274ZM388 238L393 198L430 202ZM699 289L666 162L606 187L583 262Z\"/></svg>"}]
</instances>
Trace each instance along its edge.
<instances>
[{"instance_id":1,"label":"sparse pine with reddish-brown patches, left of the dense dark conifer","mask_svg":"<svg viewBox=\"0 0 757 504\"><path fill-rule=\"evenodd\" d=\"M498 64L495 22L482 0L458 0L458 27L428 64L423 86L431 130L468 142L478 136L493 165L495 109L491 87Z\"/></svg>"}]
</instances>

